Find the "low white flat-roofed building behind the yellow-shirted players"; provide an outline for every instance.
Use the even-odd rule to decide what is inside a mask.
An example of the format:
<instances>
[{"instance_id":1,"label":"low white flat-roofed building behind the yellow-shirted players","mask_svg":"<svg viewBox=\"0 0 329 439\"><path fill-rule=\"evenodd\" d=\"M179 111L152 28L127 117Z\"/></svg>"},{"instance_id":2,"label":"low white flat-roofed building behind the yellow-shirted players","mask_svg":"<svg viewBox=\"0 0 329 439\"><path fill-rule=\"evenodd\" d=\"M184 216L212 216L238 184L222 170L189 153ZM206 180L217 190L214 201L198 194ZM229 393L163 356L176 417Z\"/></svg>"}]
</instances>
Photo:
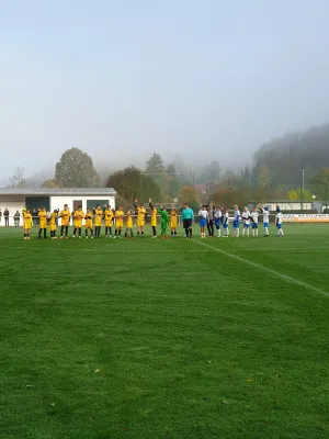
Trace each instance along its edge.
<instances>
[{"instance_id":1,"label":"low white flat-roofed building behind the yellow-shirted players","mask_svg":"<svg viewBox=\"0 0 329 439\"><path fill-rule=\"evenodd\" d=\"M60 189L0 189L0 209L4 225L3 212L9 210L9 225L13 225L13 215L16 211L22 213L24 207L34 209L45 206L47 211L55 209L61 210L64 204L68 204L70 211L75 211L79 204L86 212L87 207L95 207L97 204L110 204L115 206L116 192L113 188L60 188Z\"/></svg>"}]
</instances>

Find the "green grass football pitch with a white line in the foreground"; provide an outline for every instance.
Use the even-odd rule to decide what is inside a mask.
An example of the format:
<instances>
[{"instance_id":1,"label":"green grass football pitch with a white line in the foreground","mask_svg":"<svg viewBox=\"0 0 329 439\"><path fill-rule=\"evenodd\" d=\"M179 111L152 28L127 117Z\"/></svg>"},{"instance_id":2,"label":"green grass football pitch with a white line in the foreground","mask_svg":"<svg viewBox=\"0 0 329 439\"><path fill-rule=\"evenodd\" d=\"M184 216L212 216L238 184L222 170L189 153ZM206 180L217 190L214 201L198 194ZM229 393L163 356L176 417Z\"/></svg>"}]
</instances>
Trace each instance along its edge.
<instances>
[{"instance_id":1,"label":"green grass football pitch with a white line in the foreground","mask_svg":"<svg viewBox=\"0 0 329 439\"><path fill-rule=\"evenodd\" d=\"M329 225L270 232L1 227L0 438L328 438Z\"/></svg>"}]
</instances>

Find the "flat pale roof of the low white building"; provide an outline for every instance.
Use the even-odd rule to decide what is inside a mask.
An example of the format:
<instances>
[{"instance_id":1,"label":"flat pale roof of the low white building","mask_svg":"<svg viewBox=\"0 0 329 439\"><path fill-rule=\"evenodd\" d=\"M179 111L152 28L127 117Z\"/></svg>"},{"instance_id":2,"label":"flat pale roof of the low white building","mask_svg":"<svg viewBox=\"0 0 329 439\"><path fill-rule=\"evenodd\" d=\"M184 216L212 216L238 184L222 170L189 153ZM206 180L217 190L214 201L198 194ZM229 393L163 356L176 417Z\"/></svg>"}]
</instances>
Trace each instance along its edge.
<instances>
[{"instance_id":1,"label":"flat pale roof of the low white building","mask_svg":"<svg viewBox=\"0 0 329 439\"><path fill-rule=\"evenodd\" d=\"M0 195L116 195L113 188L0 188Z\"/></svg>"}]
</instances>

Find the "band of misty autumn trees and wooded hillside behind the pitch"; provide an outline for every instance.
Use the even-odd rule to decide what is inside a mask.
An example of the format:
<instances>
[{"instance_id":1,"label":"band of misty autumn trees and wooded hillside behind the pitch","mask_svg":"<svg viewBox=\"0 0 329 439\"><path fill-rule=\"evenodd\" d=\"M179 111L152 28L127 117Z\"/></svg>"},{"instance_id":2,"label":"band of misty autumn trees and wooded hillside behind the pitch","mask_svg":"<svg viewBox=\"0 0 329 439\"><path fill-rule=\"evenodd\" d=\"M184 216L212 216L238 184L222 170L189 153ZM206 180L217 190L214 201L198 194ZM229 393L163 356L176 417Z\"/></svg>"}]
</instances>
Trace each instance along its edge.
<instances>
[{"instance_id":1,"label":"band of misty autumn trees and wooded hillside behind the pitch","mask_svg":"<svg viewBox=\"0 0 329 439\"><path fill-rule=\"evenodd\" d=\"M306 176L304 181L303 176ZM3 185L24 188L24 170L16 168ZM73 147L61 155L54 178L45 180L42 187L112 187L123 204L136 198L168 203L177 199L193 207L209 199L225 205L270 199L326 201L329 196L329 124L302 134L288 133L263 144L253 154L252 166L246 166L240 172L223 169L216 159L192 170L179 159L166 164L154 153L144 169L132 165L102 180L92 158Z\"/></svg>"}]
</instances>

